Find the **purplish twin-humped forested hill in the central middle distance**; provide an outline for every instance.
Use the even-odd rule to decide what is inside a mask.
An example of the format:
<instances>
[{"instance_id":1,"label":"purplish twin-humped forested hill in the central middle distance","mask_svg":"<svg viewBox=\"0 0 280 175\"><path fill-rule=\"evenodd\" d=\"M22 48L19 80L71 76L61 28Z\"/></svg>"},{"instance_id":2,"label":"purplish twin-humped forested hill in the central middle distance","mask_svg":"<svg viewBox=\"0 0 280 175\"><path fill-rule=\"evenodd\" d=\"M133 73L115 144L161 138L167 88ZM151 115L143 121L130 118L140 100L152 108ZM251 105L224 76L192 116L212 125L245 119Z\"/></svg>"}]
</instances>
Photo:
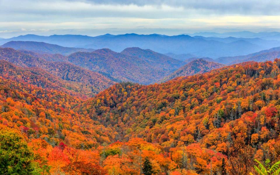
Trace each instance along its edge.
<instances>
[{"instance_id":1,"label":"purplish twin-humped forested hill in the central middle distance","mask_svg":"<svg viewBox=\"0 0 280 175\"><path fill-rule=\"evenodd\" d=\"M116 81L142 84L157 82L173 72L180 64L179 61L169 57L158 57L157 60L152 60L140 55L135 57L113 52L110 49L99 49L91 53L73 53L69 55L68 61L86 69L98 71ZM158 55L162 56L162 54ZM162 62L168 64L163 65Z\"/></svg>"}]
</instances>

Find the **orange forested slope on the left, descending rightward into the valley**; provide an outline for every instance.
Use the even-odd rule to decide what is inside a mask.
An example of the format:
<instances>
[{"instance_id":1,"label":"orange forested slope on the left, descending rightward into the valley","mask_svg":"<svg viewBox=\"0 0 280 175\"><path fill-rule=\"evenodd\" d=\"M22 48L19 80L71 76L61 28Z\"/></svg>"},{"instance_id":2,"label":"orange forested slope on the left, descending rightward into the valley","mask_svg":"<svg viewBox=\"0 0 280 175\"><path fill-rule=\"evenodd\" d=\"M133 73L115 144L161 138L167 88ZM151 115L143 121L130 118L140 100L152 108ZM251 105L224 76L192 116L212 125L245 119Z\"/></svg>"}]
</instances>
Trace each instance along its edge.
<instances>
[{"instance_id":1,"label":"orange forested slope on the left, descending rightward into the valley","mask_svg":"<svg viewBox=\"0 0 280 175\"><path fill-rule=\"evenodd\" d=\"M102 141L96 134L102 126L72 111L83 102L82 96L71 89L74 86L76 83L67 83L40 68L22 68L0 60L0 123L21 131L30 141L42 140L53 146L58 146L62 139L76 148L107 142L110 132L101 134L106 137ZM85 130L87 134L82 133Z\"/></svg>"}]
</instances>

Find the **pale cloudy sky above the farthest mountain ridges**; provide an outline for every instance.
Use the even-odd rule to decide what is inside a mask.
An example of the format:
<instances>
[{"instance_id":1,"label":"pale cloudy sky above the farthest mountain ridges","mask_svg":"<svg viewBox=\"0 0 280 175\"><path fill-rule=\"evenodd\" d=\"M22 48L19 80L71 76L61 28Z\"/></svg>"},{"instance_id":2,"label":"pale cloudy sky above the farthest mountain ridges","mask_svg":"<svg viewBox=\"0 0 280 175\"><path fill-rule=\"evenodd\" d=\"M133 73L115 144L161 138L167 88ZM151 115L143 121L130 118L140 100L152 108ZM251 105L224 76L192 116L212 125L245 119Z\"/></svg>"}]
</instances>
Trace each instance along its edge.
<instances>
[{"instance_id":1,"label":"pale cloudy sky above the farthest mountain ridges","mask_svg":"<svg viewBox=\"0 0 280 175\"><path fill-rule=\"evenodd\" d=\"M0 0L0 37L280 31L280 0Z\"/></svg>"}]
</instances>

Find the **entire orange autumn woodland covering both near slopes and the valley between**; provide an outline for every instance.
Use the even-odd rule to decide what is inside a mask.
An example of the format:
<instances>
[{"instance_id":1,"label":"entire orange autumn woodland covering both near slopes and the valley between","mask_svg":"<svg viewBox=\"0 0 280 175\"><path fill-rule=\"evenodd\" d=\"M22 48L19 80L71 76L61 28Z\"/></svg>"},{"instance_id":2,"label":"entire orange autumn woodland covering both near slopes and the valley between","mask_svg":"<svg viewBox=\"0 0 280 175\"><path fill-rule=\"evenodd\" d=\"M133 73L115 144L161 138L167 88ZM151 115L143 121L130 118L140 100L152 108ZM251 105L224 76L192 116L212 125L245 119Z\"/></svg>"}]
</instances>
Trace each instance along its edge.
<instances>
[{"instance_id":1,"label":"entire orange autumn woodland covering both near slopes and the valley between","mask_svg":"<svg viewBox=\"0 0 280 175\"><path fill-rule=\"evenodd\" d=\"M0 174L244 175L280 159L278 59L87 99L77 72L97 73L0 51Z\"/></svg>"}]
</instances>

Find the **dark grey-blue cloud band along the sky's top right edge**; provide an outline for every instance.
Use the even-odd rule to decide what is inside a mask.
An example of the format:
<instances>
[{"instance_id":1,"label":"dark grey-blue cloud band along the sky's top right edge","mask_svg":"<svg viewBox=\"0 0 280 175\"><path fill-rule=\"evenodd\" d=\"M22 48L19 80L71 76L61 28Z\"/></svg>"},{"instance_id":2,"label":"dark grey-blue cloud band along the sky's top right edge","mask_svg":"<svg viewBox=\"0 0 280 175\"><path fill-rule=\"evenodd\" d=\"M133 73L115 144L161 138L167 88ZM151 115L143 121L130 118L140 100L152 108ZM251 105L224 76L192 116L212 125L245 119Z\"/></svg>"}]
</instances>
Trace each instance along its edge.
<instances>
[{"instance_id":1,"label":"dark grey-blue cloud band along the sky's top right edge","mask_svg":"<svg viewBox=\"0 0 280 175\"><path fill-rule=\"evenodd\" d=\"M69 0L72 1L72 0ZM137 5L183 7L185 9L205 10L210 13L226 14L280 14L279 0L81 0L93 4Z\"/></svg>"}]
</instances>

